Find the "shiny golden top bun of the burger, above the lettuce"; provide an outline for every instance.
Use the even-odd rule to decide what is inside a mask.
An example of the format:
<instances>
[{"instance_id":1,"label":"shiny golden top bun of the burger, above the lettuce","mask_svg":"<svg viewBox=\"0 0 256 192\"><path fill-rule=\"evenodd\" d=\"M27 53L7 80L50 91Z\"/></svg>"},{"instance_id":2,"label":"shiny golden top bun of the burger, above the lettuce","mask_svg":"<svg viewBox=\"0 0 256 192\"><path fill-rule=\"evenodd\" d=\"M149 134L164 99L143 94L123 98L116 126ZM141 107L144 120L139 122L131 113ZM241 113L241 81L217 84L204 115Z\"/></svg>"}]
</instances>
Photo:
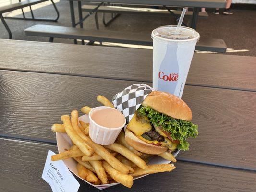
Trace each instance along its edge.
<instances>
[{"instance_id":1,"label":"shiny golden top bun of the burger, above the lettuce","mask_svg":"<svg viewBox=\"0 0 256 192\"><path fill-rule=\"evenodd\" d=\"M167 92L152 91L142 103L160 113L179 120L192 120L192 112L187 104L177 96Z\"/></svg>"}]
</instances>

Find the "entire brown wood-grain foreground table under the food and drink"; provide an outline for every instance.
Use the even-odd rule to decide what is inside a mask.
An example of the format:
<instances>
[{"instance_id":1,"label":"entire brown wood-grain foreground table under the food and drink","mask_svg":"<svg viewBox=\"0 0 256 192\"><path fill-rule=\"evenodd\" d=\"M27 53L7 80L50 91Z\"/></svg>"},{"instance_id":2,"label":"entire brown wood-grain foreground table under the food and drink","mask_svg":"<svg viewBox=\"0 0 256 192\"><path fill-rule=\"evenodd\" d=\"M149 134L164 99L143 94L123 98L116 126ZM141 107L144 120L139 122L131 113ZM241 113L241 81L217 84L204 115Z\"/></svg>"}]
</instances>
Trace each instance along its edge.
<instances>
[{"instance_id":1,"label":"entire brown wood-grain foreground table under the food and drink","mask_svg":"<svg viewBox=\"0 0 256 192\"><path fill-rule=\"evenodd\" d=\"M98 94L111 99L152 79L152 50L0 40L0 58L0 191L50 191L41 175L48 149L57 152L51 125L73 109L98 106ZM253 65L254 57L195 54L183 100L198 138L172 172L105 191L255 192ZM79 191L97 189L83 183Z\"/></svg>"}]
</instances>

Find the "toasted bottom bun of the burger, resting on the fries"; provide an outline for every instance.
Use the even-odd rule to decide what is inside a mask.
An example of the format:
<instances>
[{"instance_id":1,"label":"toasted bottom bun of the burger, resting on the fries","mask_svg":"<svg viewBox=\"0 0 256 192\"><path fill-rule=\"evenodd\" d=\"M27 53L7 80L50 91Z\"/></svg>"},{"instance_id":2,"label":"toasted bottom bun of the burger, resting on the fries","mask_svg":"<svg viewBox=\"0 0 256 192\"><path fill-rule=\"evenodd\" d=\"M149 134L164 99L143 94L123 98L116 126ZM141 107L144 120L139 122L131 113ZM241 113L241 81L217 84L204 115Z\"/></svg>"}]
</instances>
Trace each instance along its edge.
<instances>
[{"instance_id":1,"label":"toasted bottom bun of the burger, resting on the fries","mask_svg":"<svg viewBox=\"0 0 256 192\"><path fill-rule=\"evenodd\" d=\"M166 147L148 144L145 141L140 140L129 129L125 129L125 141L134 149L146 154L160 154L167 151Z\"/></svg>"}]
</instances>

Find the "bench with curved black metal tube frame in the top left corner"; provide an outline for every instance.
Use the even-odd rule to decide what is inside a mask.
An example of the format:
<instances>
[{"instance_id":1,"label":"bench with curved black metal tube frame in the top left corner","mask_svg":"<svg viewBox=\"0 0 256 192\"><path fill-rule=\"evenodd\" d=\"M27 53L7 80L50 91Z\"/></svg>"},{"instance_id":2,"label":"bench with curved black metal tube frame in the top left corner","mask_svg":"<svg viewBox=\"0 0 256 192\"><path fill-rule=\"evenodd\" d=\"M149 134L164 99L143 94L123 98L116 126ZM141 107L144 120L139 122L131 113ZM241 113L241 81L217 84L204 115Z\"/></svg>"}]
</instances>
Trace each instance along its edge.
<instances>
[{"instance_id":1,"label":"bench with curved black metal tube frame in the top left corner","mask_svg":"<svg viewBox=\"0 0 256 192\"><path fill-rule=\"evenodd\" d=\"M32 5L35 5L35 4L38 4L38 3L42 3L42 2L45 2L45 1L49 1L49 0L25 0L25 1L21 1L19 0L19 2L17 3L11 3L9 5L6 5L6 6L0 6L0 19L4 25L4 27L6 28L8 34L9 34L9 39L12 39L12 32L9 28L9 26L7 25L7 23L5 22L4 19L23 19L23 20L34 20L34 21L53 21L53 22L56 22L58 19L59 19L59 16L60 16L60 13L55 5L55 3L53 2L53 0L50 0L56 13L57 13L57 17L56 19L49 19L49 18L37 18L34 16L34 13L32 11L32 8L31 6ZM23 8L24 7L29 7L30 8L30 13L31 13L31 18L27 18L25 17L25 14L24 14L24 11L23 11ZM14 11L14 10L17 10L17 9L21 9L22 10L22 15L23 17L8 17L8 16L3 16L3 13L6 13L6 12L11 12L11 11Z\"/></svg>"}]
</instances>

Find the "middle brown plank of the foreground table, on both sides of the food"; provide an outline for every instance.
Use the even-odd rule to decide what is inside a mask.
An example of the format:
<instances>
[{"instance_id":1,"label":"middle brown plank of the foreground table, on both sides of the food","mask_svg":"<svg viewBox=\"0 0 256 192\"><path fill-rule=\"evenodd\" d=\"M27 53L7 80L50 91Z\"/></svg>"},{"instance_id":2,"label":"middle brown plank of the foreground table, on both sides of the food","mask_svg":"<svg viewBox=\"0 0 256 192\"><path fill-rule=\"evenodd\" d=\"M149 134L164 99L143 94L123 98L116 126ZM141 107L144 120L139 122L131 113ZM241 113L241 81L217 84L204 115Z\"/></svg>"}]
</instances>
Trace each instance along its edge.
<instances>
[{"instance_id":1,"label":"middle brown plank of the foreground table, on both sides of the food","mask_svg":"<svg viewBox=\"0 0 256 192\"><path fill-rule=\"evenodd\" d=\"M55 143L50 127L61 115L96 107L98 94L111 98L133 83L0 70L0 135ZM256 170L255 98L255 92L185 86L199 136L178 159Z\"/></svg>"}]
</instances>

